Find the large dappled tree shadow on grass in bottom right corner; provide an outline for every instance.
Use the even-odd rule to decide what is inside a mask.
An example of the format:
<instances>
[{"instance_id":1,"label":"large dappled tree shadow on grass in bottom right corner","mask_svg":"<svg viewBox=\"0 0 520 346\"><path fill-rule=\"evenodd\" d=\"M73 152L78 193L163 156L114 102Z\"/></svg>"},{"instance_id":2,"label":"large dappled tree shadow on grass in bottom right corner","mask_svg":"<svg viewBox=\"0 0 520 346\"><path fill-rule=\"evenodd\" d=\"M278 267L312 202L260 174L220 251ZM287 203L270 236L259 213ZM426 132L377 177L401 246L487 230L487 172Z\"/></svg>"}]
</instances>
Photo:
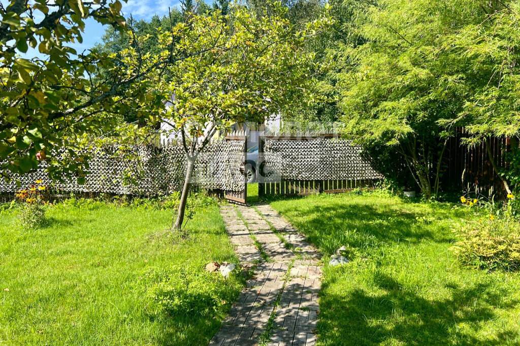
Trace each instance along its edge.
<instances>
[{"instance_id":1,"label":"large dappled tree shadow on grass in bottom right corner","mask_svg":"<svg viewBox=\"0 0 520 346\"><path fill-rule=\"evenodd\" d=\"M375 271L373 284L379 294L355 289L346 296L327 294L320 298L320 340L323 344L368 345L415 344L504 344L517 340L518 331L504 330L490 340L476 336L496 308L514 308L505 302L507 292L492 283L461 288L451 284L451 297L426 299L402 286L394 278ZM329 282L323 289L327 290Z\"/></svg>"}]
</instances>

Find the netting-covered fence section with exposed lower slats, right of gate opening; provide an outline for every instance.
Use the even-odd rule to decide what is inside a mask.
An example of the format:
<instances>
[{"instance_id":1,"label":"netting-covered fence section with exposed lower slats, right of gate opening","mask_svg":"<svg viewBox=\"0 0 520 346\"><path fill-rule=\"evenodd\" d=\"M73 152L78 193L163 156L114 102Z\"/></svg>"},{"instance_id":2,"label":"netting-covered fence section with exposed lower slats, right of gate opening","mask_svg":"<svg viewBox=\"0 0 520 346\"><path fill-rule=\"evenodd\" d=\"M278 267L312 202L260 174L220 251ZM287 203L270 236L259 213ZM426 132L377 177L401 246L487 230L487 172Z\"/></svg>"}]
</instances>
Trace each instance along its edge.
<instances>
[{"instance_id":1,"label":"netting-covered fence section with exposed lower slats, right of gate opening","mask_svg":"<svg viewBox=\"0 0 520 346\"><path fill-rule=\"evenodd\" d=\"M337 135L261 136L259 157L261 195L342 192L383 178L361 147Z\"/></svg>"}]
</instances>

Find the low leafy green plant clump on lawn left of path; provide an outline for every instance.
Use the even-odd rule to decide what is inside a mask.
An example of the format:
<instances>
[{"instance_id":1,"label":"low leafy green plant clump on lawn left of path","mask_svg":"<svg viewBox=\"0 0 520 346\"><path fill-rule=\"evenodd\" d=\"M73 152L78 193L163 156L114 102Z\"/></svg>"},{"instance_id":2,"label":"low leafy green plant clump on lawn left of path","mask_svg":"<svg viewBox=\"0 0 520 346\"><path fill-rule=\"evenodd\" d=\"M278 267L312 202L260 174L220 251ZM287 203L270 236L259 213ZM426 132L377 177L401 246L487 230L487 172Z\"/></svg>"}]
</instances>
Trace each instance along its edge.
<instances>
[{"instance_id":1,"label":"low leafy green plant clump on lawn left of path","mask_svg":"<svg viewBox=\"0 0 520 346\"><path fill-rule=\"evenodd\" d=\"M153 269L145 274L148 296L169 315L218 313L235 300L241 284L202 268Z\"/></svg>"}]
</instances>

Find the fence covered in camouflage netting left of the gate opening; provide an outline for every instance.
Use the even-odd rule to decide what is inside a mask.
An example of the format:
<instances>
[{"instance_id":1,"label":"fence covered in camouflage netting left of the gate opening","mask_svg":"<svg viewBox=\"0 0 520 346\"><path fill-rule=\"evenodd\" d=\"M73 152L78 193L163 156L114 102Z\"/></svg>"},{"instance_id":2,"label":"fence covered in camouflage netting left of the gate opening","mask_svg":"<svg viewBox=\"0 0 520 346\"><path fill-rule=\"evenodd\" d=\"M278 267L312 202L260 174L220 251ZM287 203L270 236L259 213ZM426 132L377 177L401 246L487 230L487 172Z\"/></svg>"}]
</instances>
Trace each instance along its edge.
<instances>
[{"instance_id":1,"label":"fence covered in camouflage netting left of the gate opening","mask_svg":"<svg viewBox=\"0 0 520 346\"><path fill-rule=\"evenodd\" d=\"M192 183L208 190L243 193L244 176L240 172L245 152L245 137L207 145L199 155ZM89 174L85 184L76 179L51 181L46 162L36 171L0 181L1 193L14 193L41 179L51 192L160 195L182 189L186 175L183 147L176 144L144 145L122 154L115 148L103 148L88 155Z\"/></svg>"}]
</instances>

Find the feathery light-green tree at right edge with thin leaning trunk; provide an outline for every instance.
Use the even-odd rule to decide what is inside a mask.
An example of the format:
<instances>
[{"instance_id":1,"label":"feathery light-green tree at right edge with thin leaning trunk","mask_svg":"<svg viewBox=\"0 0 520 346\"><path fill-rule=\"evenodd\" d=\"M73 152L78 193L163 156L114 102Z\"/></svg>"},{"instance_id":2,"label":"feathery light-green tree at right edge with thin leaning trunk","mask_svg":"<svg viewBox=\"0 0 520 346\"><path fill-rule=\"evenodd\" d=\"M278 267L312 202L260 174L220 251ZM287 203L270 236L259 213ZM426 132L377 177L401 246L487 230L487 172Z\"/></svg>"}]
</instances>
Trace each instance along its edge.
<instances>
[{"instance_id":1,"label":"feathery light-green tree at right edge with thin leaning trunk","mask_svg":"<svg viewBox=\"0 0 520 346\"><path fill-rule=\"evenodd\" d=\"M460 83L469 92L458 116L442 124L464 126L473 135L466 139L469 145L484 142L489 160L510 194L510 183L518 189L517 178L498 168L490 150L490 138L511 137L509 156L510 166L514 167L520 135L520 2L490 2L481 6L484 13L480 21L454 30L443 47L453 57L459 57L464 75Z\"/></svg>"}]
</instances>

